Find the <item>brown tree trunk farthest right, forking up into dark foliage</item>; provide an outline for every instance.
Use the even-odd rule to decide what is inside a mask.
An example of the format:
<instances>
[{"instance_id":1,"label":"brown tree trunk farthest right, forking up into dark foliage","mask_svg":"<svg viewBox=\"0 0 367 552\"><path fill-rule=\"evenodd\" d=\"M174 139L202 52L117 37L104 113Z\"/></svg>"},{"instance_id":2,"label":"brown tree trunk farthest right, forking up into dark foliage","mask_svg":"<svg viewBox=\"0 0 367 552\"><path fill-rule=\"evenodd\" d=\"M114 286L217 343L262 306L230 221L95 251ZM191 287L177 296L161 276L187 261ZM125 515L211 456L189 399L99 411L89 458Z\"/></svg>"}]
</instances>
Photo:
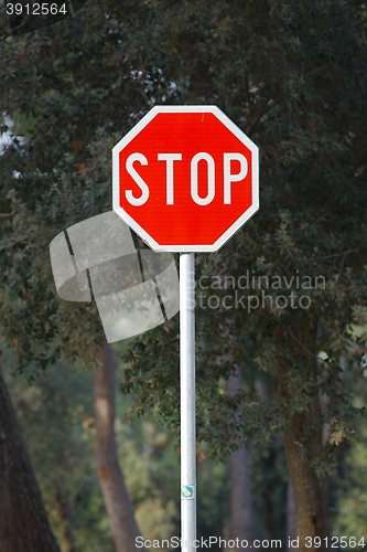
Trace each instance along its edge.
<instances>
[{"instance_id":1,"label":"brown tree trunk farthest right, forking up into dark foliage","mask_svg":"<svg viewBox=\"0 0 367 552\"><path fill-rule=\"evenodd\" d=\"M314 399L309 410L292 414L288 406L291 397L284 381L285 373L285 369L279 371L279 386L288 421L284 448L294 495L296 533L300 539L298 550L326 551L323 541L327 537L326 481L320 479L311 467L312 458L320 456L322 448L321 431L314 427L320 408L319 397ZM307 541L306 537L311 538L312 542ZM314 537L322 539L320 548L314 546Z\"/></svg>"}]
</instances>

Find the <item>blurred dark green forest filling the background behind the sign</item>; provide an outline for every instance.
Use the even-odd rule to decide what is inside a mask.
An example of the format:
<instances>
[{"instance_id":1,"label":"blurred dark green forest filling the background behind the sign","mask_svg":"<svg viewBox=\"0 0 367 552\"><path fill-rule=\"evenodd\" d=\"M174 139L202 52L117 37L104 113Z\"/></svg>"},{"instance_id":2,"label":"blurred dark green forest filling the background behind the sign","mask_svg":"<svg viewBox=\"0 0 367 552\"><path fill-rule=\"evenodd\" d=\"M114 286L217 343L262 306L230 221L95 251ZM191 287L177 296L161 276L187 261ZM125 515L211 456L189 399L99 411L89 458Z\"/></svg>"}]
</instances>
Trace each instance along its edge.
<instances>
[{"instance_id":1,"label":"blurred dark green forest filling the background behind the sign","mask_svg":"<svg viewBox=\"0 0 367 552\"><path fill-rule=\"evenodd\" d=\"M19 35L4 10L1 552L179 535L179 317L112 348L106 468L98 385L115 368L94 302L57 297L48 254L110 211L111 148L160 104L217 105L260 148L260 211L196 255L220 284L198 291L220 304L225 277L279 283L237 289L245 305L266 291L250 314L197 305L198 535L367 548L366 6L89 0ZM277 302L290 291L298 308Z\"/></svg>"}]
</instances>

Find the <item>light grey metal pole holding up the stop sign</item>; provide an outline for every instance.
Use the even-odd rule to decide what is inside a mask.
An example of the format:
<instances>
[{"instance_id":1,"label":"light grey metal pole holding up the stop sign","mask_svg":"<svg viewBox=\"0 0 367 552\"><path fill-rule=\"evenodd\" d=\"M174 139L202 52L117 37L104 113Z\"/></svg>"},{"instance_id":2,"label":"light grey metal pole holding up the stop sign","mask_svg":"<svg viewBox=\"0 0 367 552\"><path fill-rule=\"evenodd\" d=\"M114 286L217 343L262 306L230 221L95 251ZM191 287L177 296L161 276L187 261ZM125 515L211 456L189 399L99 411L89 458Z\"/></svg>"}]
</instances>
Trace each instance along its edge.
<instances>
[{"instance_id":1,"label":"light grey metal pole holding up the stop sign","mask_svg":"<svg viewBox=\"0 0 367 552\"><path fill-rule=\"evenodd\" d=\"M180 254L181 538L196 539L195 253Z\"/></svg>"}]
</instances>

